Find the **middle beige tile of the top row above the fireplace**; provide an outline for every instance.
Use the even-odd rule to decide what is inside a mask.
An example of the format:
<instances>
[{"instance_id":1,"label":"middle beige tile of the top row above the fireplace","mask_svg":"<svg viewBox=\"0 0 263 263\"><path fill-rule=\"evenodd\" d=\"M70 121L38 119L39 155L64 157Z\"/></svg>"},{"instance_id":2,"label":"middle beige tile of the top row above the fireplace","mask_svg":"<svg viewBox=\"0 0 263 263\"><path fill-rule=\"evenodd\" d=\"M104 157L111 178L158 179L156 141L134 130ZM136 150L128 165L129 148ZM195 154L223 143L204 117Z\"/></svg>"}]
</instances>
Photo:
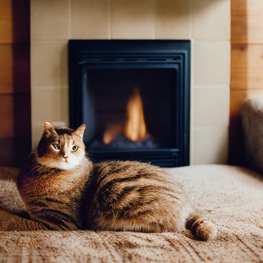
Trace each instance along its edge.
<instances>
[{"instance_id":1,"label":"middle beige tile of the top row above the fireplace","mask_svg":"<svg viewBox=\"0 0 263 263\"><path fill-rule=\"evenodd\" d=\"M112 0L110 10L112 39L153 39L155 1Z\"/></svg>"}]
</instances>

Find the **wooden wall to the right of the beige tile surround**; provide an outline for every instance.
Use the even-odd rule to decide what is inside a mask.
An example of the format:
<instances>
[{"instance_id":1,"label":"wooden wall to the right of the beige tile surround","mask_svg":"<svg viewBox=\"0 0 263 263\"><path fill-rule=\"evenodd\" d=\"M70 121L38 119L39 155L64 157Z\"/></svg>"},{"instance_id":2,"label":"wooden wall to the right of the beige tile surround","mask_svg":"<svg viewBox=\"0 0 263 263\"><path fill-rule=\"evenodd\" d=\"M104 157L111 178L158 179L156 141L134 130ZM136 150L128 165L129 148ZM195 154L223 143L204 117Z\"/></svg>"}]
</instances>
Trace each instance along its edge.
<instances>
[{"instance_id":1,"label":"wooden wall to the right of the beige tile surround","mask_svg":"<svg viewBox=\"0 0 263 263\"><path fill-rule=\"evenodd\" d=\"M245 162L242 102L249 95L263 95L262 20L262 0L231 0L230 164Z\"/></svg>"}]
</instances>

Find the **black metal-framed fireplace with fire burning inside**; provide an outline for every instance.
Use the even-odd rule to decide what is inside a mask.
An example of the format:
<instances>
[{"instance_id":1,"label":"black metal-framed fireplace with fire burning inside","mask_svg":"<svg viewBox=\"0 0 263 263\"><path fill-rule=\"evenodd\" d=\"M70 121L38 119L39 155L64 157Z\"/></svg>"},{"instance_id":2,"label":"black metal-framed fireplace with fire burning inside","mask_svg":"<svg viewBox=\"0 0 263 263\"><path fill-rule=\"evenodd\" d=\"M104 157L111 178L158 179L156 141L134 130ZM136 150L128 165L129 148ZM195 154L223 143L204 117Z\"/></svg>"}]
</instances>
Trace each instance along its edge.
<instances>
[{"instance_id":1,"label":"black metal-framed fireplace with fire burning inside","mask_svg":"<svg viewBox=\"0 0 263 263\"><path fill-rule=\"evenodd\" d=\"M189 165L190 41L70 40L69 92L93 161Z\"/></svg>"}]
</instances>

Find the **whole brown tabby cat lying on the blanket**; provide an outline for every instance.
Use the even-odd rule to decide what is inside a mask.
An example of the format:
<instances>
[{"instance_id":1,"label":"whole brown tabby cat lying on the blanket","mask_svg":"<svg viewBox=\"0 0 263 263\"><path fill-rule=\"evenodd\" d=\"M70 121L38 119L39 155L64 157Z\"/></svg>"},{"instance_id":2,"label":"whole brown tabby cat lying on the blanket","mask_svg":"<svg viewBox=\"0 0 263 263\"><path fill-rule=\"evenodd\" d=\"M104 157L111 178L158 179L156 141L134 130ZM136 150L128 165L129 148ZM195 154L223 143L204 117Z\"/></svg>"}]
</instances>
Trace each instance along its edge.
<instances>
[{"instance_id":1,"label":"whole brown tabby cat lying on the blanket","mask_svg":"<svg viewBox=\"0 0 263 263\"><path fill-rule=\"evenodd\" d=\"M193 213L183 185L160 167L137 161L93 164L85 152L85 127L45 122L37 149L18 175L18 191L41 229L189 229L199 240L216 236L215 224Z\"/></svg>"}]
</instances>

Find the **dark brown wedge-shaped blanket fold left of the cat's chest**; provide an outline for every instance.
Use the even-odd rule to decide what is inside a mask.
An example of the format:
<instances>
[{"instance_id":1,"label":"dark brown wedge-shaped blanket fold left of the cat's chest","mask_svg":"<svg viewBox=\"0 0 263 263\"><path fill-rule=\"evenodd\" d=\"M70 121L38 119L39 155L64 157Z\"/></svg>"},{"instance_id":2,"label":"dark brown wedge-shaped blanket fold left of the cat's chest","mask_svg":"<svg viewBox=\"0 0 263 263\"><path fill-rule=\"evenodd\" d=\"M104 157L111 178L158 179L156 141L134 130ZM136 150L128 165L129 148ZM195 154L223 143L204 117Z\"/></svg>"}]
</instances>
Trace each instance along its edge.
<instances>
[{"instance_id":1,"label":"dark brown wedge-shaped blanket fold left of the cat's chest","mask_svg":"<svg viewBox=\"0 0 263 263\"><path fill-rule=\"evenodd\" d=\"M0 231L57 230L0 209ZM59 230L59 229L58 229Z\"/></svg>"}]
</instances>

